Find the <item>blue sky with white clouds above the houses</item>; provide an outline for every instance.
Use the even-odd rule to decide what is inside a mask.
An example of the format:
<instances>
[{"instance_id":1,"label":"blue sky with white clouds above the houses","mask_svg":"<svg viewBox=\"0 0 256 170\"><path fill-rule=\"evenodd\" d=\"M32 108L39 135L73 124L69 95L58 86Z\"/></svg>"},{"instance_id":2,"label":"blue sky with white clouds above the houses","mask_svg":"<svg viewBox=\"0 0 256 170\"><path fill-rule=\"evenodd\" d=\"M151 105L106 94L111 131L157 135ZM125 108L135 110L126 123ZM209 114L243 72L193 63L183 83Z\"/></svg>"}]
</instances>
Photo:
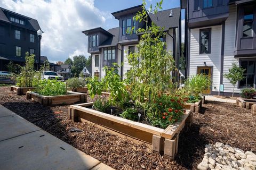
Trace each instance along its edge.
<instances>
[{"instance_id":1,"label":"blue sky with white clouds above the houses","mask_svg":"<svg viewBox=\"0 0 256 170\"><path fill-rule=\"evenodd\" d=\"M147 7L159 2L146 0ZM142 4L141 0L1 0L7 10L36 19L44 31L41 55L52 63L87 53L87 36L82 31L95 27L118 27L112 12ZM163 10L179 7L179 0L163 0ZM184 28L182 13L182 28ZM182 31L183 32L183 31ZM182 33L183 38L183 33Z\"/></svg>"}]
</instances>

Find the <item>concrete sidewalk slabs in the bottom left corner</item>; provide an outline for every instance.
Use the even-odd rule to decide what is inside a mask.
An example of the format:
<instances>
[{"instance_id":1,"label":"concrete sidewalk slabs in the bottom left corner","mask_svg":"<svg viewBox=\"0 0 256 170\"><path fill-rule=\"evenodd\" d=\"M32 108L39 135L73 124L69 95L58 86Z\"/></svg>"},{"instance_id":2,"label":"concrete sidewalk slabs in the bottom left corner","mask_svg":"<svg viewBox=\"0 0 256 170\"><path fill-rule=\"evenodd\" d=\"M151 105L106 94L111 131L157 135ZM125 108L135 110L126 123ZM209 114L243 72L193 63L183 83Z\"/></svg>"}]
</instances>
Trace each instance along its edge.
<instances>
[{"instance_id":1,"label":"concrete sidewalk slabs in the bottom left corner","mask_svg":"<svg viewBox=\"0 0 256 170\"><path fill-rule=\"evenodd\" d=\"M113 169L0 105L0 169Z\"/></svg>"}]
</instances>

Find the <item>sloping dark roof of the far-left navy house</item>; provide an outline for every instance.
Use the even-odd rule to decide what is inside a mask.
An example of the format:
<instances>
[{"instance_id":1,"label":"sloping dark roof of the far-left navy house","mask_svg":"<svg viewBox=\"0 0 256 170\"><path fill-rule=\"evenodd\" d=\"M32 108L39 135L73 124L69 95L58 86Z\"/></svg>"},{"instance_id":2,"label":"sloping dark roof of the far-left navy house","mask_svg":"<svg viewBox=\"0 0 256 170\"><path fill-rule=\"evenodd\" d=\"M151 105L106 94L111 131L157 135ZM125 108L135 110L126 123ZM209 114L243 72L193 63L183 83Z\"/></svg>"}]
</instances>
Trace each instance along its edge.
<instances>
[{"instance_id":1,"label":"sloping dark roof of the far-left navy house","mask_svg":"<svg viewBox=\"0 0 256 170\"><path fill-rule=\"evenodd\" d=\"M14 16L19 16L19 18L26 20L25 25L21 25L15 22L10 22L10 20L7 18L7 15L6 15L8 13ZM25 15L12 12L10 10L6 10L5 8L2 8L2 7L0 7L0 21L12 23L13 25L18 25L19 27L24 27L30 30L35 30L35 31L41 29L37 20L33 18L29 18L28 16L25 16Z\"/></svg>"}]
</instances>

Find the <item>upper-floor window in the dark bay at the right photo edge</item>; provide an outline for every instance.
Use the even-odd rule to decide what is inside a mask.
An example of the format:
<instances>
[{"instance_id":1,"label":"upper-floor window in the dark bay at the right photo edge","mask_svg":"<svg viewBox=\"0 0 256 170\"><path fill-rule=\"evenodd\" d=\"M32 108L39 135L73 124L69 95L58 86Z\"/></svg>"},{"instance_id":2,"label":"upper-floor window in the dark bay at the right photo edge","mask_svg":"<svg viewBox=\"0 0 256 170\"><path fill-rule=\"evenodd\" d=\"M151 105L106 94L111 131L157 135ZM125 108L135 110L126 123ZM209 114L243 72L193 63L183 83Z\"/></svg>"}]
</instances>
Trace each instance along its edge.
<instances>
[{"instance_id":1,"label":"upper-floor window in the dark bay at the right photo edge","mask_svg":"<svg viewBox=\"0 0 256 170\"><path fill-rule=\"evenodd\" d=\"M253 8L244 10L243 37L252 37Z\"/></svg>"}]
</instances>

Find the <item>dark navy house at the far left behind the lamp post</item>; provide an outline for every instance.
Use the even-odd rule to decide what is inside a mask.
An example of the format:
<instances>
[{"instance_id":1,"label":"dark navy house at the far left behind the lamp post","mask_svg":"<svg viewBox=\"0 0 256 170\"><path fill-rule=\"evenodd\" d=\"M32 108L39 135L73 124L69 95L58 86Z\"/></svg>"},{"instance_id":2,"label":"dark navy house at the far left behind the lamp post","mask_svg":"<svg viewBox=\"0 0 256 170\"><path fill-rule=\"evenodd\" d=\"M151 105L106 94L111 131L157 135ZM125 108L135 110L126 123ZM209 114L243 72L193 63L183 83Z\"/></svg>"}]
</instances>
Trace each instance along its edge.
<instances>
[{"instance_id":1,"label":"dark navy house at the far left behind the lamp post","mask_svg":"<svg viewBox=\"0 0 256 170\"><path fill-rule=\"evenodd\" d=\"M10 61L23 65L26 52L35 54L35 68L38 68L38 30L41 28L37 20L0 7L0 71L7 71Z\"/></svg>"}]
</instances>

